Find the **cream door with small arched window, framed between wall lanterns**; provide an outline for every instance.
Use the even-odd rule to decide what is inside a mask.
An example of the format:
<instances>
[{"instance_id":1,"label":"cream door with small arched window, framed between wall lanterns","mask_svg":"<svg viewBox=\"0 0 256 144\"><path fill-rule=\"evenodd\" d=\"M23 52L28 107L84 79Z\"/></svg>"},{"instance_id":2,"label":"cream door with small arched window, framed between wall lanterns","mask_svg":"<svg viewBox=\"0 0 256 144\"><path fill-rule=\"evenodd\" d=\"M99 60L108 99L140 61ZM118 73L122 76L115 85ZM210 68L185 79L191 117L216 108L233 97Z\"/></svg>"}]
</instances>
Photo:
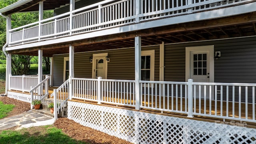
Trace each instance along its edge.
<instances>
[{"instance_id":1,"label":"cream door with small arched window, framed between wall lanterns","mask_svg":"<svg viewBox=\"0 0 256 144\"><path fill-rule=\"evenodd\" d=\"M106 61L106 56L108 56L108 53L93 54L92 78L107 78L108 63Z\"/></svg>"}]
</instances>

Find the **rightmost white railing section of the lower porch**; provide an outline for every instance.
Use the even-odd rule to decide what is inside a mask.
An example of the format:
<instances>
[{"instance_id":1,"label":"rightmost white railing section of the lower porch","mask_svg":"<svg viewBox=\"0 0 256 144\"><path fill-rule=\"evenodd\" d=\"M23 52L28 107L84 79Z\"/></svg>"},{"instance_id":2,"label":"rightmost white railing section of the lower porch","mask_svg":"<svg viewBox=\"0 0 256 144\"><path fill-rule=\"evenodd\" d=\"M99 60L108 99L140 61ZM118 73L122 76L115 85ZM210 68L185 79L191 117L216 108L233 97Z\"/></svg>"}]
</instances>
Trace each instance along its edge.
<instances>
[{"instance_id":1,"label":"rightmost white railing section of the lower porch","mask_svg":"<svg viewBox=\"0 0 256 144\"><path fill-rule=\"evenodd\" d=\"M255 121L256 84L193 83L193 114Z\"/></svg>"}]
</instances>

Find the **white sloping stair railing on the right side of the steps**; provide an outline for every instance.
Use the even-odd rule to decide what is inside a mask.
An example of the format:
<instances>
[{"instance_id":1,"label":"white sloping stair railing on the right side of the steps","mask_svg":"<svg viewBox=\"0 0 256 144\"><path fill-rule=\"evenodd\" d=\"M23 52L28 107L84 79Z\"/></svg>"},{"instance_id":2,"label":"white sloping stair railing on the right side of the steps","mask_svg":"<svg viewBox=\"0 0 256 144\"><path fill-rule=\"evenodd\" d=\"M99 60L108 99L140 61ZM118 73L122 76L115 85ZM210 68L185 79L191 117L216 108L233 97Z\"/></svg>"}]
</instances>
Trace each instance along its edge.
<instances>
[{"instance_id":1,"label":"white sloping stair railing on the right side of the steps","mask_svg":"<svg viewBox=\"0 0 256 144\"><path fill-rule=\"evenodd\" d=\"M69 96L69 79L60 87L53 90L51 97L54 97L54 118L58 118L58 114L67 106Z\"/></svg>"}]
</instances>

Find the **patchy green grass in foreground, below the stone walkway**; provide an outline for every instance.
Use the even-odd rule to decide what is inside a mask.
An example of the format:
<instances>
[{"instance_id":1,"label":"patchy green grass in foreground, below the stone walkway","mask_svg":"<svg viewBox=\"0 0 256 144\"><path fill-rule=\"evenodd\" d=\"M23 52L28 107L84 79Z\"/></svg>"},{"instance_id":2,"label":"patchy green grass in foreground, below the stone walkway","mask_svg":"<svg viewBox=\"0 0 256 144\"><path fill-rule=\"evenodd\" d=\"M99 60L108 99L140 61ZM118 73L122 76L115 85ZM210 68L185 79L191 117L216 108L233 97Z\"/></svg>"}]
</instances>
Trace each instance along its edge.
<instances>
[{"instance_id":1,"label":"patchy green grass in foreground, below the stone walkway","mask_svg":"<svg viewBox=\"0 0 256 144\"><path fill-rule=\"evenodd\" d=\"M0 132L0 144L88 144L70 138L52 125Z\"/></svg>"}]
</instances>

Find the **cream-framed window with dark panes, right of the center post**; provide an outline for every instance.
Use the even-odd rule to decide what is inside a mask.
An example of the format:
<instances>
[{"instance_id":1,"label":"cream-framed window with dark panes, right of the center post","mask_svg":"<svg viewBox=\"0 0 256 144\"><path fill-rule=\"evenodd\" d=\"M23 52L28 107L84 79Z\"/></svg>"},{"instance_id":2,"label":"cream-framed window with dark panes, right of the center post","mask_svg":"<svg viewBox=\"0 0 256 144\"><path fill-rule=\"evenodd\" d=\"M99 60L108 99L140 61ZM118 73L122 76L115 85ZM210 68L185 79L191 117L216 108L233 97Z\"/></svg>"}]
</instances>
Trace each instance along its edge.
<instances>
[{"instance_id":1,"label":"cream-framed window with dark panes, right of the center post","mask_svg":"<svg viewBox=\"0 0 256 144\"><path fill-rule=\"evenodd\" d=\"M154 81L155 50L141 51L141 80Z\"/></svg>"}]
</instances>

